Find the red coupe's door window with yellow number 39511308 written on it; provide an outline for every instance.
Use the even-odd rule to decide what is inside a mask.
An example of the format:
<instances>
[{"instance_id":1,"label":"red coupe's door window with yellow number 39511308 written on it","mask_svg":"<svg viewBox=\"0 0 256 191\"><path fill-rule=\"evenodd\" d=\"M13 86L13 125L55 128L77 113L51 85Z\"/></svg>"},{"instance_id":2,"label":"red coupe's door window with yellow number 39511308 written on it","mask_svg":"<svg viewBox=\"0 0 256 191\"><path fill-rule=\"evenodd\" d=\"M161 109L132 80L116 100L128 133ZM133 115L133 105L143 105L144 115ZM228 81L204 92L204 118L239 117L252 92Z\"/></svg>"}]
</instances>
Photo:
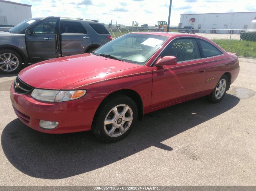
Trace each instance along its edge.
<instances>
[{"instance_id":1,"label":"red coupe's door window with yellow number 39511308 written on it","mask_svg":"<svg viewBox=\"0 0 256 191\"><path fill-rule=\"evenodd\" d=\"M161 53L161 57L164 56L175 56L177 62L201 58L196 40L190 38L181 38L171 41Z\"/></svg>"}]
</instances>

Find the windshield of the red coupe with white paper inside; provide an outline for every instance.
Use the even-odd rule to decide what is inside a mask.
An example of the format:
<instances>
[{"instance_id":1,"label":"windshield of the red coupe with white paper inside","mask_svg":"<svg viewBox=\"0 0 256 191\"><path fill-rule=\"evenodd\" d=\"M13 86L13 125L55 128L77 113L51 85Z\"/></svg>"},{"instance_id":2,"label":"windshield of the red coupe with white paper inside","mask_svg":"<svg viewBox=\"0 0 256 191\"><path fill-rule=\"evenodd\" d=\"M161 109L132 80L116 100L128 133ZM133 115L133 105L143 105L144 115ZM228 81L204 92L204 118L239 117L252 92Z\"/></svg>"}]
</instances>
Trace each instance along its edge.
<instances>
[{"instance_id":1,"label":"windshield of the red coupe with white paper inside","mask_svg":"<svg viewBox=\"0 0 256 191\"><path fill-rule=\"evenodd\" d=\"M94 53L144 65L167 39L160 35L125 34L101 46Z\"/></svg>"}]
</instances>

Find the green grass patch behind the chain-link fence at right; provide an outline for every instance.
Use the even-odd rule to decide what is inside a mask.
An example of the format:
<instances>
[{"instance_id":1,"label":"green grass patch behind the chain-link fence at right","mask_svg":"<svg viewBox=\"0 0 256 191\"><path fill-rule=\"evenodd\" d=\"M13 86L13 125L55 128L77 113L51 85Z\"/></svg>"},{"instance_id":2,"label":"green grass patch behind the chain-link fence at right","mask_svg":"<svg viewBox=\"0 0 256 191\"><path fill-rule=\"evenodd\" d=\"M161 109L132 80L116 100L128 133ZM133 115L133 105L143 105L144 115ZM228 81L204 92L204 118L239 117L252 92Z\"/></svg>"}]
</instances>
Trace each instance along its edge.
<instances>
[{"instance_id":1,"label":"green grass patch behind the chain-link fence at right","mask_svg":"<svg viewBox=\"0 0 256 191\"><path fill-rule=\"evenodd\" d=\"M227 52L237 53L238 56L256 58L256 42L246 40L231 40L230 49L228 49L228 39L213 39L212 41L221 46L221 48Z\"/></svg>"}]
</instances>

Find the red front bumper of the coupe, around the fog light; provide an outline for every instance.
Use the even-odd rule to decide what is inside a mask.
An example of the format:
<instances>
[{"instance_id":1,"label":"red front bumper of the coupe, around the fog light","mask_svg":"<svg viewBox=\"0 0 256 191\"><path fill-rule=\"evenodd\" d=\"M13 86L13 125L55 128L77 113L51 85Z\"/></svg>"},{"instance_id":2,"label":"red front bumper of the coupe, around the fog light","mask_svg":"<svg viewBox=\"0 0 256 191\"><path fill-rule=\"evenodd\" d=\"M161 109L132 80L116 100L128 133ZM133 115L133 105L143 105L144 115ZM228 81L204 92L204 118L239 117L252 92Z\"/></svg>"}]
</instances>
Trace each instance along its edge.
<instances>
[{"instance_id":1,"label":"red front bumper of the coupe, around the fog light","mask_svg":"<svg viewBox=\"0 0 256 191\"><path fill-rule=\"evenodd\" d=\"M86 95L85 95L86 96ZM99 101L86 102L82 98L65 102L44 102L31 95L17 94L12 84L10 90L12 106L18 118L27 126L44 133L71 133L91 130L91 123ZM57 121L55 129L43 129L40 119Z\"/></svg>"}]
</instances>

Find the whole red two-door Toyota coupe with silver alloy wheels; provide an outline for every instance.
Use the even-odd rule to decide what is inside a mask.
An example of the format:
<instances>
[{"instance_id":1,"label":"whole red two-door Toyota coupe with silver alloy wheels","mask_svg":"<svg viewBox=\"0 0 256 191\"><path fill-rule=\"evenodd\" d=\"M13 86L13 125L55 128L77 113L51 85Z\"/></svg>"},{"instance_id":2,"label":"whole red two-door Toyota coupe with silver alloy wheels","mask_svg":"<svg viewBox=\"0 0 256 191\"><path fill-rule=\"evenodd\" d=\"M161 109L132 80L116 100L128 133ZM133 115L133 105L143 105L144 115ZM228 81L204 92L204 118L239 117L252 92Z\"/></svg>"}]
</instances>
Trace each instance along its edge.
<instances>
[{"instance_id":1,"label":"whole red two-door Toyota coupe with silver alloy wheels","mask_svg":"<svg viewBox=\"0 0 256 191\"><path fill-rule=\"evenodd\" d=\"M40 132L128 135L145 113L207 96L221 101L238 58L192 34L129 33L95 52L23 69L10 90L18 118Z\"/></svg>"}]
</instances>

